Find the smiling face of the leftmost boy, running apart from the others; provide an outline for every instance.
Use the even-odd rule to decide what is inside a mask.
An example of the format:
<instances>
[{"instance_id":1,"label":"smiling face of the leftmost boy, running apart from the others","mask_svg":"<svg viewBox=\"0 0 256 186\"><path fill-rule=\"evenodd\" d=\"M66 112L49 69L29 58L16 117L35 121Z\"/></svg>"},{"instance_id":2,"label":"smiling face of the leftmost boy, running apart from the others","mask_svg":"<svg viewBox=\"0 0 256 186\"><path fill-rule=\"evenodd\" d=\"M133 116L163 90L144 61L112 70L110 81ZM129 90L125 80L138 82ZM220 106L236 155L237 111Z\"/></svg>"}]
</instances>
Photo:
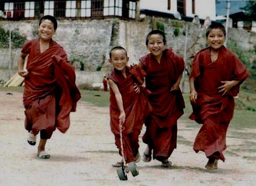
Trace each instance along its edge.
<instances>
[{"instance_id":1,"label":"smiling face of the leftmost boy, running apart from the others","mask_svg":"<svg viewBox=\"0 0 256 186\"><path fill-rule=\"evenodd\" d=\"M38 32L41 40L50 41L55 34L53 22L49 19L44 19L38 27Z\"/></svg>"}]
</instances>

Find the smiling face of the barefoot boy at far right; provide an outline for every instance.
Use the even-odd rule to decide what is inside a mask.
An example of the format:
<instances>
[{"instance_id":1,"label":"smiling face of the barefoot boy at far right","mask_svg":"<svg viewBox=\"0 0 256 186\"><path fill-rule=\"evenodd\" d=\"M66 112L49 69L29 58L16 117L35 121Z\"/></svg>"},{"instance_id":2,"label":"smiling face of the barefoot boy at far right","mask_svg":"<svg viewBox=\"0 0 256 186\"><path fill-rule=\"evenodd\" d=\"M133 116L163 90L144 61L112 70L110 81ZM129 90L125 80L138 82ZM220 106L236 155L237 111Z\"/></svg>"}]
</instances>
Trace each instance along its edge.
<instances>
[{"instance_id":1,"label":"smiling face of the barefoot boy at far right","mask_svg":"<svg viewBox=\"0 0 256 186\"><path fill-rule=\"evenodd\" d=\"M218 51L225 42L225 34L221 29L210 30L207 36L207 42L209 43L211 49Z\"/></svg>"}]
</instances>

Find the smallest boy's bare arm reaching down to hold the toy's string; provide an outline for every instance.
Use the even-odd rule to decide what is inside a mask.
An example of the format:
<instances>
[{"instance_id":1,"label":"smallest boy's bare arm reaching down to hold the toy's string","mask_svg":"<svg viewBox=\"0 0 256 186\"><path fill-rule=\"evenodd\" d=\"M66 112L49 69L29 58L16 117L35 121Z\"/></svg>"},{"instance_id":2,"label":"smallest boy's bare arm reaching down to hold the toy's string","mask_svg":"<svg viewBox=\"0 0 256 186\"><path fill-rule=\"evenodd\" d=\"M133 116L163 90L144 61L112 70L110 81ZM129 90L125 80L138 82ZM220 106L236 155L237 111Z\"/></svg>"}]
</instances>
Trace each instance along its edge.
<instances>
[{"instance_id":1,"label":"smallest boy's bare arm reaching down to hold the toy's string","mask_svg":"<svg viewBox=\"0 0 256 186\"><path fill-rule=\"evenodd\" d=\"M121 93L118 89L118 86L112 80L109 80L109 87L114 92L114 95L116 97L116 102L118 104L118 108L119 108L119 111L120 111L119 123L123 124L123 122L125 122L125 111L123 110L122 95L121 95Z\"/></svg>"}]
</instances>

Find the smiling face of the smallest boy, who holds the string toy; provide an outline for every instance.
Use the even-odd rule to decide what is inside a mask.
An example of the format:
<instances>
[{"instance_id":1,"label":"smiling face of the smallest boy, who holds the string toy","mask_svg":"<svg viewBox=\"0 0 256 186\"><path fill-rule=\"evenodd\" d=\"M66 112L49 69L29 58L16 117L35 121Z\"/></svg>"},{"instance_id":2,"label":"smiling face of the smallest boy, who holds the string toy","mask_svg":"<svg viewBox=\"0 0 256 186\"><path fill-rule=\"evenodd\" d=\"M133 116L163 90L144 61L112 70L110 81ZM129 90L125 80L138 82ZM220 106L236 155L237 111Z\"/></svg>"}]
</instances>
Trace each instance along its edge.
<instances>
[{"instance_id":1,"label":"smiling face of the smallest boy, who holds the string toy","mask_svg":"<svg viewBox=\"0 0 256 186\"><path fill-rule=\"evenodd\" d=\"M123 49L114 49L111 51L111 56L109 58L110 64L113 65L118 71L122 71L125 74L125 67L129 61L127 53Z\"/></svg>"}]
</instances>

